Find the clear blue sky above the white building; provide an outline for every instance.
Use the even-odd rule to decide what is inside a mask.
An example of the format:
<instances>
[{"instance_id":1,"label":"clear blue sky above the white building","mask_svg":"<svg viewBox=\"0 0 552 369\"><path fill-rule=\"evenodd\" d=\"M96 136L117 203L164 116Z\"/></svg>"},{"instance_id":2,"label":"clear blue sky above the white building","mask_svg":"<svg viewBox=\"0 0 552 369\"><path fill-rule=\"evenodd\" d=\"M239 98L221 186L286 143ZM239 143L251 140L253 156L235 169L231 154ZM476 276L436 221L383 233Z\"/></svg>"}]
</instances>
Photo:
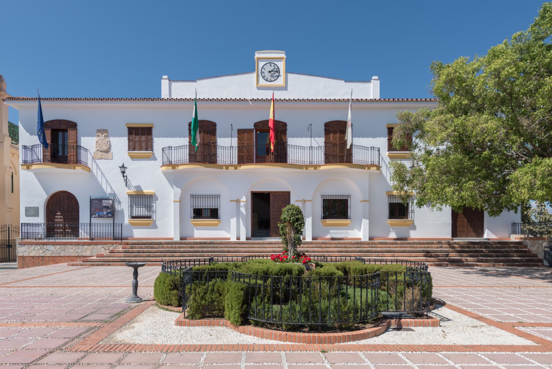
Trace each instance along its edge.
<instances>
[{"instance_id":1,"label":"clear blue sky above the white building","mask_svg":"<svg viewBox=\"0 0 552 369\"><path fill-rule=\"evenodd\" d=\"M249 72L381 79L381 97L431 97L433 60L485 54L542 1L5 1L0 73L13 96L160 97L173 80ZM17 122L17 110L9 119Z\"/></svg>"}]
</instances>

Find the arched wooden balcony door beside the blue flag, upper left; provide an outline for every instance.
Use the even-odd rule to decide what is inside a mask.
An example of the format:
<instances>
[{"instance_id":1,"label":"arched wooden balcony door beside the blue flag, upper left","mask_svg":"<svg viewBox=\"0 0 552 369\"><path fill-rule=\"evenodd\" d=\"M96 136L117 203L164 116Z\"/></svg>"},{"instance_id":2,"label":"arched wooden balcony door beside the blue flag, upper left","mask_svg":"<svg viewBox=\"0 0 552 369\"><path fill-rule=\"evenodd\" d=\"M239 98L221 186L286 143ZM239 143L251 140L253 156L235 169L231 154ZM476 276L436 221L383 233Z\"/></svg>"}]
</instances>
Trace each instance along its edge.
<instances>
[{"instance_id":1,"label":"arched wooden balcony door beside the blue flag, upper left","mask_svg":"<svg viewBox=\"0 0 552 369\"><path fill-rule=\"evenodd\" d=\"M77 164L77 123L55 119L44 122L44 134L49 146L43 149L43 161Z\"/></svg>"}]
</instances>

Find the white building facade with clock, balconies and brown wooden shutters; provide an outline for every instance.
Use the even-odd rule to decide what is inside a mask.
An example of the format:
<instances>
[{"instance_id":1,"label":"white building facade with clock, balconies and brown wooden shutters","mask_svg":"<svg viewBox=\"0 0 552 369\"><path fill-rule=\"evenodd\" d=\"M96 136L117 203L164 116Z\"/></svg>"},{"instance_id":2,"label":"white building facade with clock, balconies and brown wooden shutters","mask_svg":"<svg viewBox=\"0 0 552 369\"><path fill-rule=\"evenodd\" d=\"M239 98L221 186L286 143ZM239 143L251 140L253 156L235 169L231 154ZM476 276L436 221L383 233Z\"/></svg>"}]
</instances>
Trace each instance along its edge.
<instances>
[{"instance_id":1,"label":"white building facade with clock, balconies and brown wooden shutters","mask_svg":"<svg viewBox=\"0 0 552 369\"><path fill-rule=\"evenodd\" d=\"M278 236L281 209L293 203L305 215L306 240L509 238L519 214L439 212L392 193L389 162L408 160L388 145L395 114L436 101L380 99L378 77L290 73L285 60L283 52L262 51L255 72L163 76L161 98L43 98L47 150L36 135L36 98L6 98L19 110L21 222L42 224L44 236L86 238L86 224L110 229L113 219L91 219L91 198L105 198L114 199L123 238L247 240ZM189 138L196 91L197 151Z\"/></svg>"}]
</instances>

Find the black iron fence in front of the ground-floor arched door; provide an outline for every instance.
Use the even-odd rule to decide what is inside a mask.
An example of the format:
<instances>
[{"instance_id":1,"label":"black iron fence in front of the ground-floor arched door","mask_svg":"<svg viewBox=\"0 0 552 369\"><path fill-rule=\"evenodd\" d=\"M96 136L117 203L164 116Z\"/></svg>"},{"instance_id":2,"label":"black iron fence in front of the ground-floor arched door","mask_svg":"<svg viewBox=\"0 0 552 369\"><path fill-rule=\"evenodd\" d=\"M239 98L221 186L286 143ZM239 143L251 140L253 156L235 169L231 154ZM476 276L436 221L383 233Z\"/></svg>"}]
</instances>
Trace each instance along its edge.
<instances>
[{"instance_id":1,"label":"black iron fence in front of the ground-floor arched door","mask_svg":"<svg viewBox=\"0 0 552 369\"><path fill-rule=\"evenodd\" d=\"M22 240L122 240L121 223L21 223Z\"/></svg>"}]
</instances>

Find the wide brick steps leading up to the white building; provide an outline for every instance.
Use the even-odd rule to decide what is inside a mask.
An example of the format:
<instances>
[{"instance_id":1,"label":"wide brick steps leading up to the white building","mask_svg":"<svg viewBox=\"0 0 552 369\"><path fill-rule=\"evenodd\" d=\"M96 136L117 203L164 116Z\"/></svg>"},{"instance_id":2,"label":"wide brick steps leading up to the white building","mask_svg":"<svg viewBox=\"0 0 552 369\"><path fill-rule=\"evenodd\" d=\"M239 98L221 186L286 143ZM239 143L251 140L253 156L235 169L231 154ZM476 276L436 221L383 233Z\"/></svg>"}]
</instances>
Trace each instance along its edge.
<instances>
[{"instance_id":1,"label":"wide brick steps leading up to the white building","mask_svg":"<svg viewBox=\"0 0 552 369\"><path fill-rule=\"evenodd\" d=\"M124 241L119 249L86 257L75 266L115 266L128 261L161 265L186 258L278 254L279 240L260 241ZM427 262L430 266L542 266L520 241L304 241L310 256L362 256Z\"/></svg>"}]
</instances>

